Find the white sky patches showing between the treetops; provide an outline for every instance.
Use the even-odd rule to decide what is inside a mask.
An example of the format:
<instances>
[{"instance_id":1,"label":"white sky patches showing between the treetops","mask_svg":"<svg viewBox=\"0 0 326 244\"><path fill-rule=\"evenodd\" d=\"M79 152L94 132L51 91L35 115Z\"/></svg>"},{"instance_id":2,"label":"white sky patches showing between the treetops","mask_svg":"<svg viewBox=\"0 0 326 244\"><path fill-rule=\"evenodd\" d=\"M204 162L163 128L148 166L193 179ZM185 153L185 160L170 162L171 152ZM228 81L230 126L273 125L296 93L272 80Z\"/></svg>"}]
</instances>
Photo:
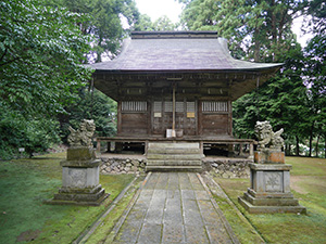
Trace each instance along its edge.
<instances>
[{"instance_id":1,"label":"white sky patches showing between the treetops","mask_svg":"<svg viewBox=\"0 0 326 244\"><path fill-rule=\"evenodd\" d=\"M172 22L179 21L179 15L183 11L183 4L177 0L135 0L140 13L147 14L152 22L159 17L166 15ZM303 17L298 17L293 21L292 31L297 35L298 42L302 47L306 46L306 41L312 38L311 35L303 35L300 30Z\"/></svg>"}]
</instances>

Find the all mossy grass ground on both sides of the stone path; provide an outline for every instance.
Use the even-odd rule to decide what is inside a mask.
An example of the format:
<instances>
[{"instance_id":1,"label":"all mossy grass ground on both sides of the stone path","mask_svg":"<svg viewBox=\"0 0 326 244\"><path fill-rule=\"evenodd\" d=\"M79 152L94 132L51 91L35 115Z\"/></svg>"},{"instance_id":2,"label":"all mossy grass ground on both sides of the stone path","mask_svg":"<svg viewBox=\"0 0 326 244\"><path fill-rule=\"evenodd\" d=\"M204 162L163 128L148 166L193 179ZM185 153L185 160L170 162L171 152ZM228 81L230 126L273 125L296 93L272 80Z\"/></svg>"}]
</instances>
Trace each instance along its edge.
<instances>
[{"instance_id":1,"label":"all mossy grass ground on both sides of the stone path","mask_svg":"<svg viewBox=\"0 0 326 244\"><path fill-rule=\"evenodd\" d=\"M0 162L0 243L71 243L87 230L111 202L134 179L134 175L101 176L110 197L100 207L46 205L61 187L60 160L64 153L34 159ZM291 189L308 215L249 215L238 196L249 187L249 179L215 177L238 215L221 196L216 202L241 243L326 243L326 159L287 157L291 164ZM141 179L125 194L87 243L103 243L129 203ZM106 240L108 241L108 240Z\"/></svg>"}]
</instances>

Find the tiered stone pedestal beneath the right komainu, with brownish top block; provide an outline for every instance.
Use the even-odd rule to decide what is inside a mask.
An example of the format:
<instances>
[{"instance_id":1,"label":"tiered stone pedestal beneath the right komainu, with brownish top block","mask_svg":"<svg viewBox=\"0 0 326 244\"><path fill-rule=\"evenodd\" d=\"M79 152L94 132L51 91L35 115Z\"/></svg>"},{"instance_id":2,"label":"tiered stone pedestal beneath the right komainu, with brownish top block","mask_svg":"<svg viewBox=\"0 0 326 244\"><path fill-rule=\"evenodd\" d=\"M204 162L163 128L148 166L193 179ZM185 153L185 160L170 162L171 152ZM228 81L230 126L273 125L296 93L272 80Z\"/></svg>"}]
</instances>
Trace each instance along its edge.
<instances>
[{"instance_id":1,"label":"tiered stone pedestal beneath the right komainu, with brownish top block","mask_svg":"<svg viewBox=\"0 0 326 244\"><path fill-rule=\"evenodd\" d=\"M291 165L285 164L284 152L273 150L254 153L254 164L250 164L251 185L239 203L250 214L301 213L305 207L299 205L290 190Z\"/></svg>"}]
</instances>

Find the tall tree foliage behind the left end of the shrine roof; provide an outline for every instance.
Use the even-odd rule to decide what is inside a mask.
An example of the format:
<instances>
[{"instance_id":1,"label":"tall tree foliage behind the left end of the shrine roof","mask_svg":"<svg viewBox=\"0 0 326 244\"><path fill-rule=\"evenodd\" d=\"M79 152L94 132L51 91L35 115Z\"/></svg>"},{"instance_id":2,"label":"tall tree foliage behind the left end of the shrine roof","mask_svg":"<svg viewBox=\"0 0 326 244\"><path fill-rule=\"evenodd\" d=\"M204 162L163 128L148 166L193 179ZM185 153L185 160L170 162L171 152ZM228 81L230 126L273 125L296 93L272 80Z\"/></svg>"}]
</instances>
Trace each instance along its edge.
<instances>
[{"instance_id":1,"label":"tall tree foliage behind the left end of the shrine roof","mask_svg":"<svg viewBox=\"0 0 326 244\"><path fill-rule=\"evenodd\" d=\"M103 57L114 57L126 34L122 20L133 26L139 17L134 0L46 0L46 2L89 16L88 20L79 22L79 26L84 35L93 38L93 49L87 55L91 63L101 62Z\"/></svg>"}]
</instances>

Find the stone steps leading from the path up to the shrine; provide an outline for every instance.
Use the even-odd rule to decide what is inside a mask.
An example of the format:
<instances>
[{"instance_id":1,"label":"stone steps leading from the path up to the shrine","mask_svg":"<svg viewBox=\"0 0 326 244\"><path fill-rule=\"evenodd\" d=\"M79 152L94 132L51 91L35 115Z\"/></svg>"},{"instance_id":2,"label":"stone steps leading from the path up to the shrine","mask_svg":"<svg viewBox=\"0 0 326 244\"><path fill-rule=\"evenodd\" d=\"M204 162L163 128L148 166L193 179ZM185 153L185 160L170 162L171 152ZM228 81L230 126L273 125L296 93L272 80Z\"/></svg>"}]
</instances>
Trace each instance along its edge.
<instances>
[{"instance_id":1,"label":"stone steps leading from the path up to the shrine","mask_svg":"<svg viewBox=\"0 0 326 244\"><path fill-rule=\"evenodd\" d=\"M201 171L202 155L199 143L150 142L147 171Z\"/></svg>"}]
</instances>

